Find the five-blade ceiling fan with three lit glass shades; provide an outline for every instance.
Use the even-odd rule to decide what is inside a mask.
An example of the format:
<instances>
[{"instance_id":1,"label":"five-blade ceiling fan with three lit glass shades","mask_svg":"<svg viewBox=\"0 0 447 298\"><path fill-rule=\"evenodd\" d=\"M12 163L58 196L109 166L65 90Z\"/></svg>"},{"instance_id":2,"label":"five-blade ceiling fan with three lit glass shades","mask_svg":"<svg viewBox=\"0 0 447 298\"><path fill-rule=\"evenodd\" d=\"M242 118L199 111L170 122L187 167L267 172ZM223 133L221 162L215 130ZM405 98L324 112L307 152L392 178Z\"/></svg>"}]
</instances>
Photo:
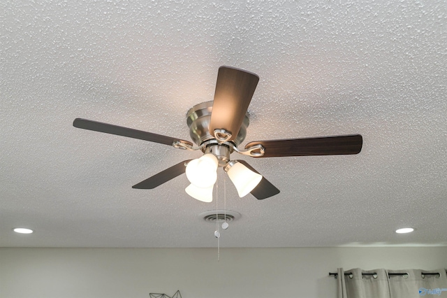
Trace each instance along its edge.
<instances>
[{"instance_id":1,"label":"five-blade ceiling fan with three lit glass shades","mask_svg":"<svg viewBox=\"0 0 447 298\"><path fill-rule=\"evenodd\" d=\"M240 197L251 193L256 199L266 199L279 193L277 187L247 162L242 159L231 160L230 154L233 152L256 158L351 155L360 152L362 149L360 134L254 141L248 143L243 150L237 148L247 134L249 126L247 110L258 80L259 77L249 71L229 66L219 68L214 101L197 104L186 114L189 134L197 146L190 141L170 136L81 118L76 118L73 126L161 143L179 149L201 150L204 153L202 157L179 162L133 185L133 188L152 189L186 173L191 182L191 185L186 187L186 192L200 201L212 201L212 190L219 166L228 173Z\"/></svg>"}]
</instances>

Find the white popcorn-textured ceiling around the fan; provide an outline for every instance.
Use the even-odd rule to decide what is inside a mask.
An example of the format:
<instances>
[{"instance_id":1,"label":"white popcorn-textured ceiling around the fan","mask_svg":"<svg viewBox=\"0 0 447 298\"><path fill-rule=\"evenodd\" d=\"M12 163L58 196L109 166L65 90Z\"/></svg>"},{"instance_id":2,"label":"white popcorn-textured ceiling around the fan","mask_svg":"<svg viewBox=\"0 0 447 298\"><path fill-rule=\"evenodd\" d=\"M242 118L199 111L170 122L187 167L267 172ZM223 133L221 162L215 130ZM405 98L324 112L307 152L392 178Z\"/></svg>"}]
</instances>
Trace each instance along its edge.
<instances>
[{"instance_id":1,"label":"white popcorn-textured ceiling around the fan","mask_svg":"<svg viewBox=\"0 0 447 298\"><path fill-rule=\"evenodd\" d=\"M227 178L242 217L221 246L447 246L447 1L10 0L0 27L0 246L217 246L198 216L216 202L189 197L185 176L131 188L200 152L72 123L189 140L186 111L212 100L221 65L261 78L240 148L364 141L358 155L242 157L281 193L240 199Z\"/></svg>"}]
</instances>

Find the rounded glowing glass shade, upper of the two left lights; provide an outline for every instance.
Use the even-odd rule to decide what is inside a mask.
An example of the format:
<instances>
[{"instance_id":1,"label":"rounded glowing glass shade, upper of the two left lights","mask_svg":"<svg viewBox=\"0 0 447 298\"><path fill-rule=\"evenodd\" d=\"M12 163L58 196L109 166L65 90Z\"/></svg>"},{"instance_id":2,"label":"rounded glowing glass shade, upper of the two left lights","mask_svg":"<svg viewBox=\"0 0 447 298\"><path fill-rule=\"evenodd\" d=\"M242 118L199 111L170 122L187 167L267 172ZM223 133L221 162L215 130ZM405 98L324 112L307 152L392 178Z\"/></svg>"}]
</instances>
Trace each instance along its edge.
<instances>
[{"instance_id":1,"label":"rounded glowing glass shade, upper of the two left lights","mask_svg":"<svg viewBox=\"0 0 447 298\"><path fill-rule=\"evenodd\" d=\"M186 166L186 178L197 187L210 187L216 183L218 164L217 157L212 153L193 159Z\"/></svg>"}]
</instances>

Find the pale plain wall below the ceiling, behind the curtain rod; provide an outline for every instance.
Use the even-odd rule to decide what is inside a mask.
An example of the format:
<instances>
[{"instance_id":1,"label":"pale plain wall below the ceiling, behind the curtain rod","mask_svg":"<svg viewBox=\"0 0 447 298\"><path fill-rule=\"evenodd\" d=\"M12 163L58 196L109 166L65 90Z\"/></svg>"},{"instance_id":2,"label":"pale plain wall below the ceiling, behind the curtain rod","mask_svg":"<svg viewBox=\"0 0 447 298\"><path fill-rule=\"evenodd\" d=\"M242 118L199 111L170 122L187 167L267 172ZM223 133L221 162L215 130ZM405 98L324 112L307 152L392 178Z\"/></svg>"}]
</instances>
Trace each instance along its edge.
<instances>
[{"instance_id":1,"label":"pale plain wall below the ceiling, behind the curtain rod","mask_svg":"<svg viewBox=\"0 0 447 298\"><path fill-rule=\"evenodd\" d=\"M337 267L447 268L447 248L0 248L0 297L336 297Z\"/></svg>"}]
</instances>

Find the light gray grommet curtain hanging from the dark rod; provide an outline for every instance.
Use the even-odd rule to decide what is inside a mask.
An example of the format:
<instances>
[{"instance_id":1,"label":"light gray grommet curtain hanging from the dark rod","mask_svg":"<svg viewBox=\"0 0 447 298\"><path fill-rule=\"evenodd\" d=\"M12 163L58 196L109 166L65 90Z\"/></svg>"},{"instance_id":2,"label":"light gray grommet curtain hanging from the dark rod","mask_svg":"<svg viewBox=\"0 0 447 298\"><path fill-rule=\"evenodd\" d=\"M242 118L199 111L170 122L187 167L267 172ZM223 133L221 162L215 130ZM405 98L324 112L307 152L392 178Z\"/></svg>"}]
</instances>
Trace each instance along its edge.
<instances>
[{"instance_id":1,"label":"light gray grommet curtain hanging from the dark rod","mask_svg":"<svg viewBox=\"0 0 447 298\"><path fill-rule=\"evenodd\" d=\"M345 272L351 273L345 275ZM402 273L405 275L393 275ZM424 274L430 272L431 274ZM363 275L362 275L363 273ZM365 275L371 273L374 275ZM433 274L436 273L436 274ZM338 298L420 298L446 297L446 269L423 271L337 269ZM388 274L390 276L388 277Z\"/></svg>"}]
</instances>

